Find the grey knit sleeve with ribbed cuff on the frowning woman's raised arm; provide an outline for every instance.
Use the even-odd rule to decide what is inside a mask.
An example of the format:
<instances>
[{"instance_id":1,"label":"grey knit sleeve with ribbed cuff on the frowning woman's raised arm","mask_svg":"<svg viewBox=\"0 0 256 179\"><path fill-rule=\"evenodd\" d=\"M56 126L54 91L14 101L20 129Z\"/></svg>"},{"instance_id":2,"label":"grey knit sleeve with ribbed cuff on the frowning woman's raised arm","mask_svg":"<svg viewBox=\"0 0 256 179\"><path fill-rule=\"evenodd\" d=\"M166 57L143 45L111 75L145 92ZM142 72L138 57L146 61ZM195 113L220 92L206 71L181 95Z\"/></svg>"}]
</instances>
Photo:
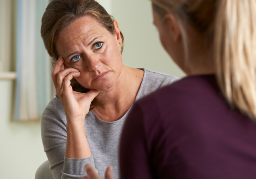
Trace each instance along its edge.
<instances>
[{"instance_id":1,"label":"grey knit sleeve with ribbed cuff on the frowning woman's raised arm","mask_svg":"<svg viewBox=\"0 0 256 179\"><path fill-rule=\"evenodd\" d=\"M93 156L83 159L65 157L66 116L62 104L58 100L53 99L42 113L41 135L44 151L49 160L54 179L82 178L86 175L84 171L86 164L90 163L95 168L94 159Z\"/></svg>"}]
</instances>

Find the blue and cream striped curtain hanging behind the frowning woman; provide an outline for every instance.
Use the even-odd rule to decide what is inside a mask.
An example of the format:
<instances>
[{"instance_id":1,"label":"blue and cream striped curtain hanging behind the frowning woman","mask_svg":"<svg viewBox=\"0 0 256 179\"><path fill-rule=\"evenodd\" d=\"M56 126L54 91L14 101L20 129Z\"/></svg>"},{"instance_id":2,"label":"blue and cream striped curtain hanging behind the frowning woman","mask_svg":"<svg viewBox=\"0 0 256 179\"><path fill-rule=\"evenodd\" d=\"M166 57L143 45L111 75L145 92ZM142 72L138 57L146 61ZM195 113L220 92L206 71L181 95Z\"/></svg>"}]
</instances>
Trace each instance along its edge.
<instances>
[{"instance_id":1,"label":"blue and cream striped curtain hanging behind the frowning woman","mask_svg":"<svg viewBox=\"0 0 256 179\"><path fill-rule=\"evenodd\" d=\"M14 121L40 119L52 99L51 61L40 36L48 0L17 0Z\"/></svg>"}]
</instances>

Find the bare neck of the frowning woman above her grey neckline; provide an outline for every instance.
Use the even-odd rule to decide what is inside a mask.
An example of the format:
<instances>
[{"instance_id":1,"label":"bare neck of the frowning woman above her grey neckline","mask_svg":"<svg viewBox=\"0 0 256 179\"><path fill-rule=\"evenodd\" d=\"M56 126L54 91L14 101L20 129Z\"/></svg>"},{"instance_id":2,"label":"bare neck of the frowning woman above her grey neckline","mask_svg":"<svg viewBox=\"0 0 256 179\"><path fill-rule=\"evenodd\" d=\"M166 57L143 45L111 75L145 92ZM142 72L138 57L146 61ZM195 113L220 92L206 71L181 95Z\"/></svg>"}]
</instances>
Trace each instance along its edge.
<instances>
[{"instance_id":1,"label":"bare neck of the frowning woman above her grey neckline","mask_svg":"<svg viewBox=\"0 0 256 179\"><path fill-rule=\"evenodd\" d=\"M141 74L123 65L121 74L113 87L101 91L93 100L92 111L102 120L115 121L120 119L130 108L140 88ZM141 73L139 72L139 73ZM132 84L132 85L131 85Z\"/></svg>"}]
</instances>

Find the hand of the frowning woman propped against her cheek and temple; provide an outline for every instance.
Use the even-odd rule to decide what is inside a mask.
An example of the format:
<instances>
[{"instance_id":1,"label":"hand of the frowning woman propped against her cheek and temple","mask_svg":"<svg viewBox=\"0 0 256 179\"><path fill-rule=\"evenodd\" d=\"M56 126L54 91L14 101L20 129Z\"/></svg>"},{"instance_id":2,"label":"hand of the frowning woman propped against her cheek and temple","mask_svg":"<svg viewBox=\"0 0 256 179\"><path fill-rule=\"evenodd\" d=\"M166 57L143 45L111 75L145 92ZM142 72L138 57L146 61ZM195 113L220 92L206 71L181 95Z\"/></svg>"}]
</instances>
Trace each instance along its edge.
<instances>
[{"instance_id":1,"label":"hand of the frowning woman propped against her cheek and temple","mask_svg":"<svg viewBox=\"0 0 256 179\"><path fill-rule=\"evenodd\" d=\"M90 90L87 93L73 91L70 80L79 77L80 72L74 68L65 69L64 59L60 57L53 72L52 80L56 93L63 105L67 122L81 123L89 112L92 100L99 94L99 90Z\"/></svg>"}]
</instances>

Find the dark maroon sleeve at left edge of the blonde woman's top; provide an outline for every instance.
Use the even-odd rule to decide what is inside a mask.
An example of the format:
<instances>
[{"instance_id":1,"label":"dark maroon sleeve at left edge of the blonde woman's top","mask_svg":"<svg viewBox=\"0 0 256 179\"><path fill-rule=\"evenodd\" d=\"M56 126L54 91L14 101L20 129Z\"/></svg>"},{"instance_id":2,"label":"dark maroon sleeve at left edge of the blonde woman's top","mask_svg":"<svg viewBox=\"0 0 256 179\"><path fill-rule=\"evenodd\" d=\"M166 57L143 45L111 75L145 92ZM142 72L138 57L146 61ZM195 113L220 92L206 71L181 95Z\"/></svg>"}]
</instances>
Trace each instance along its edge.
<instances>
[{"instance_id":1,"label":"dark maroon sleeve at left edge of the blonde woman's top","mask_svg":"<svg viewBox=\"0 0 256 179\"><path fill-rule=\"evenodd\" d=\"M138 105L133 106L125 122L120 143L121 179L150 179L143 113Z\"/></svg>"}]
</instances>

